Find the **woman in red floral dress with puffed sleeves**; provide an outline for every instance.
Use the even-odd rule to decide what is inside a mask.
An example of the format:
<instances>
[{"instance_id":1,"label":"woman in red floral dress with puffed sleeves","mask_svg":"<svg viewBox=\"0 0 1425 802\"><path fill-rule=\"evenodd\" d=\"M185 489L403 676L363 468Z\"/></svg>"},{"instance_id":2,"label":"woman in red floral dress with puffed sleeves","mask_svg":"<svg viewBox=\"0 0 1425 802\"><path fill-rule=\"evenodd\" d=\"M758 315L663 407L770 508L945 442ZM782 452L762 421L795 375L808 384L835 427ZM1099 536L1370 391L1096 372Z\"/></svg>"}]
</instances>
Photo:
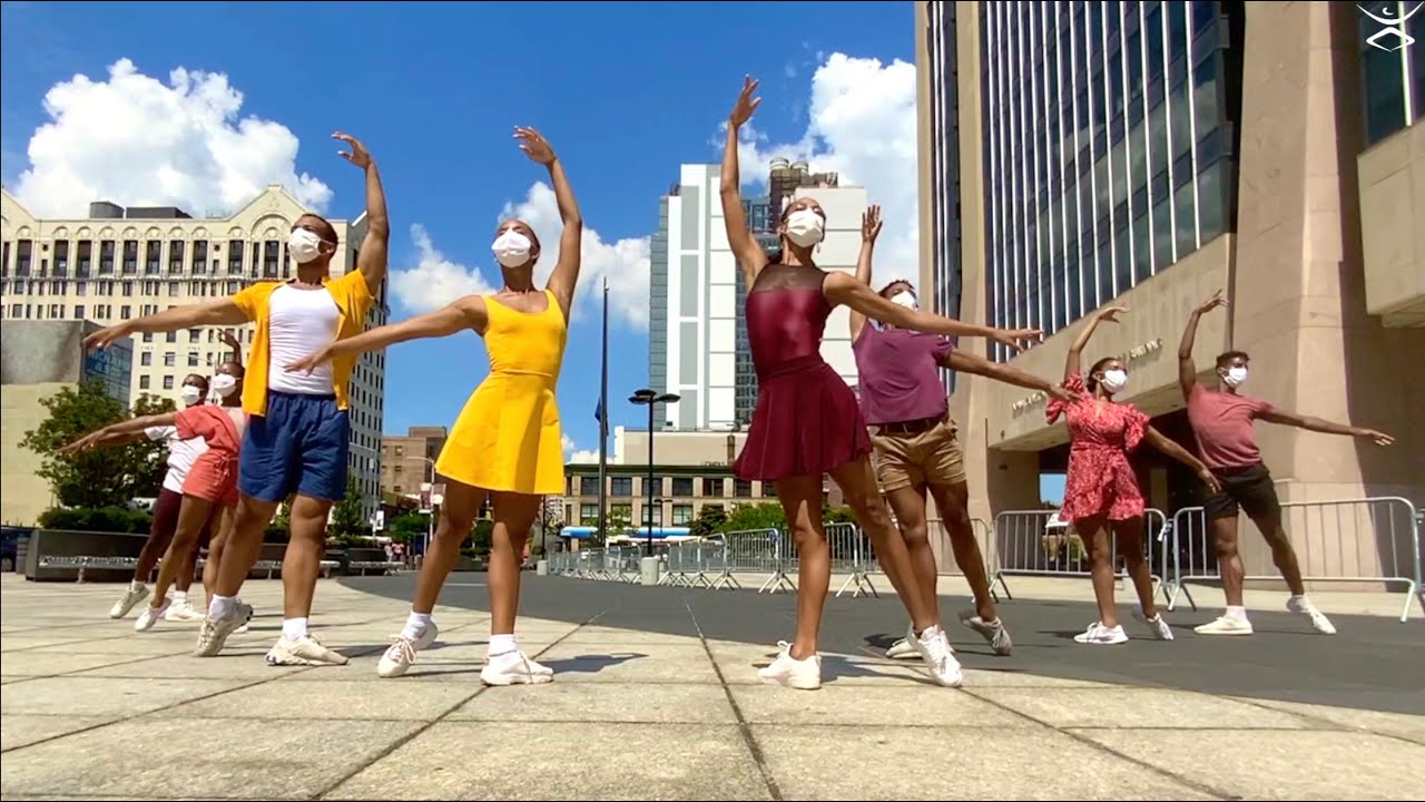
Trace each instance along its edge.
<instances>
[{"instance_id":1,"label":"woman in red floral dress with puffed sleeves","mask_svg":"<svg viewBox=\"0 0 1425 802\"><path fill-rule=\"evenodd\" d=\"M1124 313L1124 307L1106 307L1089 317L1069 348L1064 364L1064 390L1076 398L1067 402L1052 401L1046 410L1050 424L1060 417L1069 424L1069 477L1059 517L1073 524L1080 538L1092 538L1090 571L1093 595L1099 601L1099 621L1074 635L1074 641L1080 644L1112 645L1129 639L1119 624L1113 598L1114 537L1143 605L1141 619L1160 639L1173 639L1173 631L1153 602L1153 575L1143 551L1143 494L1133 465L1129 464L1129 454L1147 440L1153 448L1193 468L1213 491L1217 489L1217 479L1207 465L1150 427L1149 417L1133 404L1113 400L1129 384L1129 372L1121 361L1114 357L1099 360L1084 378L1079 360L1083 347L1100 323L1117 323L1117 315Z\"/></svg>"}]
</instances>

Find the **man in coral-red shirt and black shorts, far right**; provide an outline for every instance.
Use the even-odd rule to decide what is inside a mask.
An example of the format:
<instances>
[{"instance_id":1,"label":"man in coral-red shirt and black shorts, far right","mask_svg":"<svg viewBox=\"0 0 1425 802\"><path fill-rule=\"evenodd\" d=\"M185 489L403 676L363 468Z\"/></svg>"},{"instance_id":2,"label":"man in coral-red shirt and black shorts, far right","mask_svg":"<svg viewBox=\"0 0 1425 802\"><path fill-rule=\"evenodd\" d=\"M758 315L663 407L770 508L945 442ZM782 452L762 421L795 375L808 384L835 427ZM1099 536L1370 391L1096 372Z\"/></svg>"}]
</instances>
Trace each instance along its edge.
<instances>
[{"instance_id":1,"label":"man in coral-red shirt and black shorts, far right","mask_svg":"<svg viewBox=\"0 0 1425 802\"><path fill-rule=\"evenodd\" d=\"M1203 504L1213 544L1217 552L1217 568L1223 575L1223 592L1227 597L1227 612L1196 628L1201 635L1251 635L1247 608L1243 605L1243 568L1237 554L1237 517L1245 509L1247 517L1271 547L1271 559L1291 588L1287 609L1311 618L1318 632L1334 635L1335 626L1307 598L1307 587L1301 579L1301 565L1297 552L1281 525L1281 502L1271 472L1261 461L1253 422L1263 420L1327 434L1345 434L1371 440L1378 445L1389 445L1395 440L1375 430L1332 424L1321 418L1310 418L1285 410L1277 410L1267 401L1250 398L1237 390L1247 381L1245 351L1227 351L1217 357L1217 387L1208 390L1197 382L1197 367L1193 364L1193 341L1197 338L1197 321L1204 313L1226 307L1223 291L1218 290L1204 301L1187 320L1183 342L1177 347L1177 381L1187 400L1187 420L1197 435L1197 450L1213 475L1221 482L1221 491Z\"/></svg>"}]
</instances>

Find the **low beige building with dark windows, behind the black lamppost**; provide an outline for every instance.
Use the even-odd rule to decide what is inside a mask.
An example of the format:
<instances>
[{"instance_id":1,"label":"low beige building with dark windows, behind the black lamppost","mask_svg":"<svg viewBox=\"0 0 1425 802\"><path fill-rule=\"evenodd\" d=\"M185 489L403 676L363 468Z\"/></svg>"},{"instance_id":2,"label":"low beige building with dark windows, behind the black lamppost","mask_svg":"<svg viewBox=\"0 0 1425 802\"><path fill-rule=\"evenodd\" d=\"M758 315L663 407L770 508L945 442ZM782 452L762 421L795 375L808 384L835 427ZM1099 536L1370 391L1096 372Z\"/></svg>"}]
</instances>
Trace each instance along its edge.
<instances>
[{"instance_id":1,"label":"low beige building with dark windows, behind the black lamppost","mask_svg":"<svg viewBox=\"0 0 1425 802\"><path fill-rule=\"evenodd\" d=\"M614 428L608 454L608 519L654 527L687 527L715 507L731 512L738 504L777 504L771 482L752 482L732 475L732 460L747 435L731 431L656 431L653 438L653 505L648 505L648 431ZM598 525L598 465L571 462L564 467L564 524ZM831 507L844 505L841 489L826 481L824 498Z\"/></svg>"}]
</instances>

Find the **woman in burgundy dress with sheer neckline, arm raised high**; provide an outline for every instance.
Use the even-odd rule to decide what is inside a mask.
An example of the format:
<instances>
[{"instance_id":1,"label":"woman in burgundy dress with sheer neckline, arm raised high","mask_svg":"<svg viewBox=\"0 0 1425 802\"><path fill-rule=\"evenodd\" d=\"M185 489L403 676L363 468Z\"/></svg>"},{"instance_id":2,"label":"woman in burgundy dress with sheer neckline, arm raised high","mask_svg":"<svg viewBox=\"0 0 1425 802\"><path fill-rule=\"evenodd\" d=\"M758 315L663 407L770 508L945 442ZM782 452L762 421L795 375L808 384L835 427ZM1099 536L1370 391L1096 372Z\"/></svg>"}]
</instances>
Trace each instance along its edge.
<instances>
[{"instance_id":1,"label":"woman in burgundy dress with sheer neckline, arm raised high","mask_svg":"<svg viewBox=\"0 0 1425 802\"><path fill-rule=\"evenodd\" d=\"M846 273L825 273L814 250L825 233L826 213L802 197L781 213L781 257L771 263L747 227L740 196L737 133L761 98L747 78L728 117L722 154L722 215L728 247L747 281L747 333L757 370L757 410L732 471L742 479L777 484L777 497L794 529L801 559L797 587L797 638L760 671L764 682L815 689L821 686L817 634L831 582L831 552L821 522L822 477L841 485L856 522L871 537L875 554L911 612L911 641L940 685L962 682L949 638L935 605L918 592L905 542L896 534L876 491L871 469L871 438L855 394L821 357L821 338L832 307L845 304L869 318L901 328L960 337L992 337L1016 347L1037 331L1002 331L972 325L892 304Z\"/></svg>"}]
</instances>

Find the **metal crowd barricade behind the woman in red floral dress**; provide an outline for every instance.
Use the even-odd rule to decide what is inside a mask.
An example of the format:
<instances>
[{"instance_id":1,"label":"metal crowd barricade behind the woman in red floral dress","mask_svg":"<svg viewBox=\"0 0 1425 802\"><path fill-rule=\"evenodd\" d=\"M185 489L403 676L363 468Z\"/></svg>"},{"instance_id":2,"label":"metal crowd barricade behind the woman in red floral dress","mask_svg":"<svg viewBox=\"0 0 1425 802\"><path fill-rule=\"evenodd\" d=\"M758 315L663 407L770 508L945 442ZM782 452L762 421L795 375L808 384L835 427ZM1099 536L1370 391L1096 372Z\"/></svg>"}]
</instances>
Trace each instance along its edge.
<instances>
[{"instance_id":1,"label":"metal crowd barricade behind the woman in red floral dress","mask_svg":"<svg viewBox=\"0 0 1425 802\"><path fill-rule=\"evenodd\" d=\"M1089 577L1093 548L1092 534L1082 537L1072 525L1050 527L1054 509L1012 509L995 517L996 565L990 577L990 589L999 585L1006 598L1009 592L1005 577ZM1161 542L1167 529L1167 517L1160 509L1147 509L1143 517L1143 548L1149 565L1153 565L1153 544ZM1119 567L1117 537L1110 534L1114 554L1114 574L1126 577ZM1163 578L1153 577L1153 584L1161 585Z\"/></svg>"}]
</instances>

